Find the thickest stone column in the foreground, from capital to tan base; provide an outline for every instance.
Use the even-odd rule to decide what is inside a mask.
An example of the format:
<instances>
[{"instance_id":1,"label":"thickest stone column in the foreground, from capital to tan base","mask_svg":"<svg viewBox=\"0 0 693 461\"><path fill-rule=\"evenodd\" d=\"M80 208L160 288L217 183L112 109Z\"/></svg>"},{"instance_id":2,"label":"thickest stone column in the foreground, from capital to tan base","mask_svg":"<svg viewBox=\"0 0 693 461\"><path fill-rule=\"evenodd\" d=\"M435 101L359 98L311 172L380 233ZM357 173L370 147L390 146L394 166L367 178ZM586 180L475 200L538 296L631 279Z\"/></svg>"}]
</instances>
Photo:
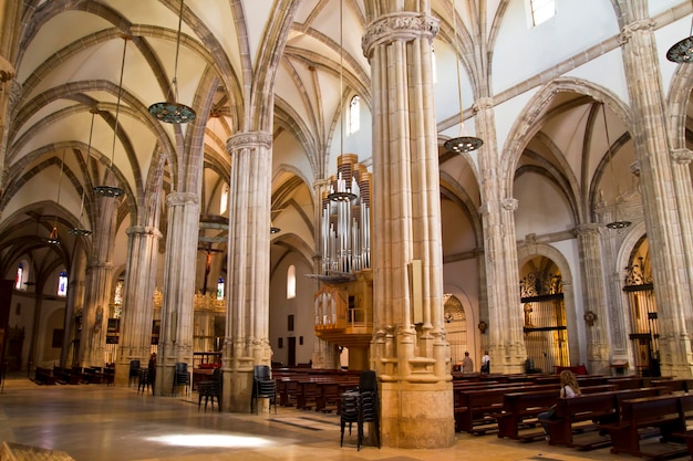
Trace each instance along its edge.
<instances>
[{"instance_id":1,"label":"thickest stone column in the foreground, from capital to tan base","mask_svg":"<svg viewBox=\"0 0 693 461\"><path fill-rule=\"evenodd\" d=\"M405 10L410 11L405 11ZM377 2L362 40L373 82L373 324L386 447L455 440L443 322L441 197L427 2Z\"/></svg>"}]
</instances>

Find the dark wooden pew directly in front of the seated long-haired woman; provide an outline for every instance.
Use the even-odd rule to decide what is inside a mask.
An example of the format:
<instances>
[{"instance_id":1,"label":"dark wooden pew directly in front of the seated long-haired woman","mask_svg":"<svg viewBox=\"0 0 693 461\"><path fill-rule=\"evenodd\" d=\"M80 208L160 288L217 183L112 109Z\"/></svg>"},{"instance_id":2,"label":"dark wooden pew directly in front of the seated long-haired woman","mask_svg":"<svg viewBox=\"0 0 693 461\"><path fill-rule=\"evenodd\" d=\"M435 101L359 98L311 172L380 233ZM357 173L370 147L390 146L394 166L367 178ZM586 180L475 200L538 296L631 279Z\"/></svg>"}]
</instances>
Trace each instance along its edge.
<instances>
[{"instance_id":1,"label":"dark wooden pew directly in front of the seated long-haired woman","mask_svg":"<svg viewBox=\"0 0 693 461\"><path fill-rule=\"evenodd\" d=\"M582 394L593 394L616 390L613 385L588 386L580 388ZM548 411L558 401L559 389L528 392L507 394L503 399L503 412L496 415L498 421L498 437L532 441L545 438L544 431L519 436L520 428L535 427L534 419L539 413ZM527 421L531 420L531 421Z\"/></svg>"}]
</instances>

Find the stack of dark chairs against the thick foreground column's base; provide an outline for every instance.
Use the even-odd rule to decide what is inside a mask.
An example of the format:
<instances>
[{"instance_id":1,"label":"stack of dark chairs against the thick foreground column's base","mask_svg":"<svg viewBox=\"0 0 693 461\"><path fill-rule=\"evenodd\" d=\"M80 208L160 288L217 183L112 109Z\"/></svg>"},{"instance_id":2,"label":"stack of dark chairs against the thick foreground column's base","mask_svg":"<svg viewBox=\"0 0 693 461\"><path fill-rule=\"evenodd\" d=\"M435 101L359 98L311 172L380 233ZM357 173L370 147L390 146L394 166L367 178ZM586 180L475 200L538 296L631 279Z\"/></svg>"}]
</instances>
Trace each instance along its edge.
<instances>
[{"instance_id":1,"label":"stack of dark chairs against the thick foreground column's base","mask_svg":"<svg viewBox=\"0 0 693 461\"><path fill-rule=\"evenodd\" d=\"M349 423L349 434L351 436L351 425L358 425L356 450L361 450L363 443L363 425L371 422L374 431L377 448L380 448L380 399L377 397L377 379L375 371L364 370L359 376L359 388L342 394L340 405L340 447L344 442L344 428Z\"/></svg>"}]
</instances>

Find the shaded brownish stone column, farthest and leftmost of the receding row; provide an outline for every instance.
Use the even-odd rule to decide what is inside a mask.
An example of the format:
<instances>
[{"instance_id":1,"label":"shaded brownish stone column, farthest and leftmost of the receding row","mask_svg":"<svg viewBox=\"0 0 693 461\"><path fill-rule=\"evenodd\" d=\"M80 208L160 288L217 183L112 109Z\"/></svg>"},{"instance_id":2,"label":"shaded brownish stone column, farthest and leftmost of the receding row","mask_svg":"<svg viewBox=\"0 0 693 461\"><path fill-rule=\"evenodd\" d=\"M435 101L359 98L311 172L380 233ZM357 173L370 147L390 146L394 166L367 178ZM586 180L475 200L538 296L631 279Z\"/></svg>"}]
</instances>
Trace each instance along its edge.
<instances>
[{"instance_id":1,"label":"shaded brownish stone column, farthest and leftmost of the receding row","mask_svg":"<svg viewBox=\"0 0 693 461\"><path fill-rule=\"evenodd\" d=\"M103 367L106 347L106 321L113 285L116 200L96 196L97 224L92 234L93 252L86 263L86 293L82 310L80 365Z\"/></svg>"}]
</instances>

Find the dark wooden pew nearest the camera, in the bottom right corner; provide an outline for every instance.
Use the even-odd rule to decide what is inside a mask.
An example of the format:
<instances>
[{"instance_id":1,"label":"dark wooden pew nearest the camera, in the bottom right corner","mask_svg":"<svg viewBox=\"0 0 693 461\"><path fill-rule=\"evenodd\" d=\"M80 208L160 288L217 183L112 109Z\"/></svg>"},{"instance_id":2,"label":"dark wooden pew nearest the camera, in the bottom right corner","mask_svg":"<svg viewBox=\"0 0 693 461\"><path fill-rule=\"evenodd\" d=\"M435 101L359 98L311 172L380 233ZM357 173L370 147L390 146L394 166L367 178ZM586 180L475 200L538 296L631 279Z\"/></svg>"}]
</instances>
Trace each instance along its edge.
<instances>
[{"instance_id":1,"label":"dark wooden pew nearest the camera, in the bottom right corner","mask_svg":"<svg viewBox=\"0 0 693 461\"><path fill-rule=\"evenodd\" d=\"M683 408L693 405L693 395L665 395L624 400L621 418L617 422L602 423L599 428L609 432L611 453L629 453L635 457L668 458L686 452L683 444L659 446L656 451L647 452L640 447L648 430L656 429L661 441L681 441L686 433Z\"/></svg>"}]
</instances>

